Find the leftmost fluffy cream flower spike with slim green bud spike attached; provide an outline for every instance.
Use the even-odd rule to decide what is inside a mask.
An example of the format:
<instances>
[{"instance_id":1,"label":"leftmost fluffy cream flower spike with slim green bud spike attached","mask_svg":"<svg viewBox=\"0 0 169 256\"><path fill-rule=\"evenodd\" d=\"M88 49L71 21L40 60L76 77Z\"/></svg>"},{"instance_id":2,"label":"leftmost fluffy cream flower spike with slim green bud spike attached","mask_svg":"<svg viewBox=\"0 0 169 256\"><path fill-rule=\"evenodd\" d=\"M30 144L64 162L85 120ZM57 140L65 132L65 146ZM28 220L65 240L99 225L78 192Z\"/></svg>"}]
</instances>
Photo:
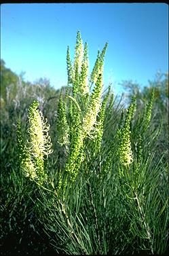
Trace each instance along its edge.
<instances>
[{"instance_id":1,"label":"leftmost fluffy cream flower spike with slim green bud spike attached","mask_svg":"<svg viewBox=\"0 0 169 256\"><path fill-rule=\"evenodd\" d=\"M44 121L43 115L37 107L39 103L35 100L29 107L29 141L28 146L23 145L20 123L18 123L18 147L20 149L20 168L26 177L43 183L47 175L45 173L44 160L52 153L52 143L48 131L50 125Z\"/></svg>"}]
</instances>

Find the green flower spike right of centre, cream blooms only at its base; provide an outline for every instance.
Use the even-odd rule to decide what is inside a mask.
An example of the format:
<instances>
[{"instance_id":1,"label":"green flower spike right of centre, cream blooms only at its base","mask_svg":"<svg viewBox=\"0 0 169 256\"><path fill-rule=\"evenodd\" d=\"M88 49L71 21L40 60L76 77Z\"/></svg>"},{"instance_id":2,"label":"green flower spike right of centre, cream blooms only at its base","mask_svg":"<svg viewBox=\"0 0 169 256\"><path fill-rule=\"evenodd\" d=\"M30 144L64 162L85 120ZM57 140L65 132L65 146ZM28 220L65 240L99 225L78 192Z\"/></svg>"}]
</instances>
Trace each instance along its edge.
<instances>
[{"instance_id":1,"label":"green flower spike right of centre, cream blooms only at its base","mask_svg":"<svg viewBox=\"0 0 169 256\"><path fill-rule=\"evenodd\" d=\"M126 119L124 121L124 126L123 128L120 128L118 131L118 135L119 135L118 156L119 156L119 164L121 166L128 166L133 161L131 141L130 141L130 122L132 120L132 116L134 114L135 109L136 109L136 99L132 98L132 103L128 108Z\"/></svg>"}]
</instances>

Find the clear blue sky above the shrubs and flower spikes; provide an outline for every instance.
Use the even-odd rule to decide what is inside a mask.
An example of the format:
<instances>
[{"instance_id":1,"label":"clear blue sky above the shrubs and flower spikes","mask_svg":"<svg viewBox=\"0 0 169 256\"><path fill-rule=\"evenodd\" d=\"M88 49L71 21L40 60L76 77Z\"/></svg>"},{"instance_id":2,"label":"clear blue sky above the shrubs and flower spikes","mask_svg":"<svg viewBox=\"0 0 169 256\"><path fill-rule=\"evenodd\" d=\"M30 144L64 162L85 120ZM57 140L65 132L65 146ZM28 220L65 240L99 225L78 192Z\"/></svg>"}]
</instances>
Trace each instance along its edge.
<instances>
[{"instance_id":1,"label":"clear blue sky above the shrubs and flower spikes","mask_svg":"<svg viewBox=\"0 0 169 256\"><path fill-rule=\"evenodd\" d=\"M90 71L98 49L105 56L105 86L123 80L147 86L168 71L168 5L165 3L19 3L1 5L1 58L25 80L67 84L67 45L73 60L77 30L88 42Z\"/></svg>"}]
</instances>

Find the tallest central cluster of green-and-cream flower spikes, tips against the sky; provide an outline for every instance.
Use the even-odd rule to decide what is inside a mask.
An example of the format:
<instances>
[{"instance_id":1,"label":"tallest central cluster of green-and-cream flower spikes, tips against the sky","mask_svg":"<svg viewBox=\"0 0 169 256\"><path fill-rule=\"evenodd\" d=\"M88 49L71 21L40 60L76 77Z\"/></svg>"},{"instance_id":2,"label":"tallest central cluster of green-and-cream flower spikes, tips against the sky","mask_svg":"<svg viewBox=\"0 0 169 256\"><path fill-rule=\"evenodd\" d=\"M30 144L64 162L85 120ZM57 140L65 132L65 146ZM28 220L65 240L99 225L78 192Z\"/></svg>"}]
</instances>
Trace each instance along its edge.
<instances>
[{"instance_id":1,"label":"tallest central cluster of green-and-cream flower spikes, tips against the sky","mask_svg":"<svg viewBox=\"0 0 169 256\"><path fill-rule=\"evenodd\" d=\"M74 62L71 62L69 48L67 50L68 84L73 86L73 95L67 96L69 98L68 113L73 122L69 124L71 140L65 171L70 175L72 181L75 181L81 162L83 162L83 141L86 139L86 136L92 137L97 129L96 126L98 123L96 122L96 118L101 111L101 106L100 123L104 119L105 101L102 105L101 94L103 62L106 49L107 43L102 52L98 54L97 64L92 71L92 81L91 79L90 81L88 80L88 44L85 43L83 48L79 31L77 31ZM89 83L91 82L92 84L94 83L94 90L90 95ZM102 126L99 129L101 133Z\"/></svg>"}]
</instances>

